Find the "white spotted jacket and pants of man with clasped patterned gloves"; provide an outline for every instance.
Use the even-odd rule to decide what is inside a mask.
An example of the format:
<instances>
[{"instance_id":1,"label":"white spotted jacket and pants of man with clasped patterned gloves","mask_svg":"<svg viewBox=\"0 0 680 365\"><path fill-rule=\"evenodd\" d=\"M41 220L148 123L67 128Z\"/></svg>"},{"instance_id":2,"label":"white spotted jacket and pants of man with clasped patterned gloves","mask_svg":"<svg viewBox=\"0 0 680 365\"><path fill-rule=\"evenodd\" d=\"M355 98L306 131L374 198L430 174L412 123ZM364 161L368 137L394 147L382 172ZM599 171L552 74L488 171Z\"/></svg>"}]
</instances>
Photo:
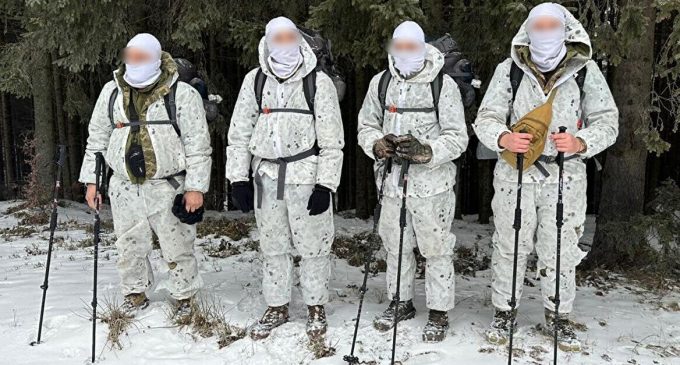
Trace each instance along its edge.
<instances>
[{"instance_id":1,"label":"white spotted jacket and pants of man with clasped patterned gloves","mask_svg":"<svg viewBox=\"0 0 680 365\"><path fill-rule=\"evenodd\" d=\"M444 65L444 55L426 45L425 68L417 75L404 79L394 68L389 56L392 80L387 90L386 103L401 108L429 108L433 106L430 82ZM411 133L432 148L432 160L411 165L406 199L408 210L400 300L414 295L416 262L413 248L418 246L427 258L425 290L429 309L448 311L454 306L455 280L453 248L456 237L451 233L455 211L454 184L456 166L453 160L465 151L468 142L464 108L455 81L444 76L439 101L439 120L434 112L391 113L385 111L378 98L378 83L382 73L371 80L364 104L359 112L358 140L364 152L375 160L373 145L389 133ZM383 119L384 115L384 119ZM382 179L383 162L376 161L374 169L378 187ZM399 256L399 212L401 188L400 165L395 164L387 176L385 198L379 233L387 250L387 289L390 299L396 292L397 260Z\"/></svg>"}]
</instances>

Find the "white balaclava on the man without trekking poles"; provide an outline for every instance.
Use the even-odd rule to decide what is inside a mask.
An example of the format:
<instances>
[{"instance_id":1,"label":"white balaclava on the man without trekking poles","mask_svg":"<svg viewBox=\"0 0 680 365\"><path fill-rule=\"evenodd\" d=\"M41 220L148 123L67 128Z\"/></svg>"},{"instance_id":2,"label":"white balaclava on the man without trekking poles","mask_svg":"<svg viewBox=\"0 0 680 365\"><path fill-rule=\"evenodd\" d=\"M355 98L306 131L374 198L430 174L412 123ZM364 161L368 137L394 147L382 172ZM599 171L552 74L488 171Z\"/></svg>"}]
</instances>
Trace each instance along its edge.
<instances>
[{"instance_id":1,"label":"white balaclava on the man without trekking poles","mask_svg":"<svg viewBox=\"0 0 680 365\"><path fill-rule=\"evenodd\" d=\"M293 75L302 63L302 53L298 43L282 45L272 41L274 35L281 31L298 32L298 29L290 19L282 16L274 18L267 23L264 33L267 49L269 50L267 63L269 63L269 67L274 75L287 79Z\"/></svg>"}]
</instances>

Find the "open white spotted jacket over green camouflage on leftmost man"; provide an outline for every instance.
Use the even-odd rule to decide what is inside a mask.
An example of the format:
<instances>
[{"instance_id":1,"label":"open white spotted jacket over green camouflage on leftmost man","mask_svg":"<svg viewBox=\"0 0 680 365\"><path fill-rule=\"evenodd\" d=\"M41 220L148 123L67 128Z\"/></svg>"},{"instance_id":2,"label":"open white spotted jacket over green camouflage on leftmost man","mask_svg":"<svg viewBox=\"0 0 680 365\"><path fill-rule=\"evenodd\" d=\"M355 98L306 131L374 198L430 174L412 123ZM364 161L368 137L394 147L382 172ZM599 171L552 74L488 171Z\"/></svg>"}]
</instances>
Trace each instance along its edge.
<instances>
[{"instance_id":1,"label":"open white spotted jacket over green camouflage on leftmost man","mask_svg":"<svg viewBox=\"0 0 680 365\"><path fill-rule=\"evenodd\" d=\"M118 97L113 109L114 123L129 123L123 108L123 93L117 83L117 77L109 81L97 99L90 124L85 157L80 170L79 181L84 184L95 183L95 153L104 154L106 163L114 173L129 180L125 165L125 147L130 133L129 127L113 128L109 120L109 98L114 88L118 88ZM205 193L210 186L212 165L212 148L210 134L205 119L203 100L198 91L191 85L177 81L175 72L169 86L177 82L175 102L177 104L177 123L182 136L179 137L170 124L146 125L153 150L156 156L156 174L152 179L162 179L186 170L184 179L185 191ZM153 102L146 114L146 120L168 120L163 99Z\"/></svg>"}]
</instances>

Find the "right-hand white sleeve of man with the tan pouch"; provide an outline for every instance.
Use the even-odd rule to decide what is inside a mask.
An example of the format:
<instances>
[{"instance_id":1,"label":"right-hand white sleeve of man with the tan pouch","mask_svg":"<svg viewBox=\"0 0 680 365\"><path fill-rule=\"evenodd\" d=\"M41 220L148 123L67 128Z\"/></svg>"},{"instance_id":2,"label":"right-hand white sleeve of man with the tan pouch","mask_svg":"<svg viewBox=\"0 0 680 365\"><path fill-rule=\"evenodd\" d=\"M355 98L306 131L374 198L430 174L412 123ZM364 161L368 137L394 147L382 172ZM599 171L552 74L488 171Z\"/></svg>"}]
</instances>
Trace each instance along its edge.
<instances>
[{"instance_id":1,"label":"right-hand white sleeve of man with the tan pouch","mask_svg":"<svg viewBox=\"0 0 680 365\"><path fill-rule=\"evenodd\" d=\"M586 143L586 152L581 156L588 158L616 142L619 134L619 109L597 64L589 61L586 67L588 73L583 85L581 108L587 127L578 131L576 137Z\"/></svg>"}]
</instances>

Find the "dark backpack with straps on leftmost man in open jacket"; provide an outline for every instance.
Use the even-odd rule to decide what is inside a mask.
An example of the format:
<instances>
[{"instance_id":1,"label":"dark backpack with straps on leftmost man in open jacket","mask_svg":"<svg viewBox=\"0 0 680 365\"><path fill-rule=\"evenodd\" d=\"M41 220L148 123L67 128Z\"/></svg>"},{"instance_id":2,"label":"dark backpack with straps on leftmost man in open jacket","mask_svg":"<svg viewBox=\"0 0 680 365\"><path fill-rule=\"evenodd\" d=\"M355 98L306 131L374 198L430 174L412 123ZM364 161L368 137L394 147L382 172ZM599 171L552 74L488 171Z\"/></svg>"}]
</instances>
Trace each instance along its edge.
<instances>
[{"instance_id":1,"label":"dark backpack with straps on leftmost man in open jacket","mask_svg":"<svg viewBox=\"0 0 680 365\"><path fill-rule=\"evenodd\" d=\"M206 120L208 122L212 122L217 117L219 116L219 110L217 108L217 103L219 101L213 101L213 100L208 100L206 96L207 95L207 86L205 84L205 81L200 79L198 77L198 72L196 71L196 68L194 65L189 62L188 60L184 58L178 58L175 60L175 64L177 64L177 73L179 74L179 77L177 79L177 82L182 81L186 82L187 84L191 85L198 91L198 93L201 95L201 99L203 99L203 108L205 109L205 115L206 115ZM175 102L175 95L177 94L177 82L172 84L172 87L170 88L170 92L165 94L163 96L163 104L165 104L165 111L168 113L168 116L170 117L169 120L148 120L144 122L143 124L171 124L172 128L175 130L175 133L177 133L178 137L182 136L182 131L179 129L179 125L177 124L177 104ZM116 98L118 97L118 88L114 88L113 91L111 92L111 95L109 96L109 120L111 121L111 125L113 128L117 128L118 126L116 125L116 122L113 120L113 108L115 107L116 104ZM221 101L221 99L220 99ZM126 127L128 126L136 126L139 125L140 123L138 121L132 121L131 123L125 124Z\"/></svg>"}]
</instances>

